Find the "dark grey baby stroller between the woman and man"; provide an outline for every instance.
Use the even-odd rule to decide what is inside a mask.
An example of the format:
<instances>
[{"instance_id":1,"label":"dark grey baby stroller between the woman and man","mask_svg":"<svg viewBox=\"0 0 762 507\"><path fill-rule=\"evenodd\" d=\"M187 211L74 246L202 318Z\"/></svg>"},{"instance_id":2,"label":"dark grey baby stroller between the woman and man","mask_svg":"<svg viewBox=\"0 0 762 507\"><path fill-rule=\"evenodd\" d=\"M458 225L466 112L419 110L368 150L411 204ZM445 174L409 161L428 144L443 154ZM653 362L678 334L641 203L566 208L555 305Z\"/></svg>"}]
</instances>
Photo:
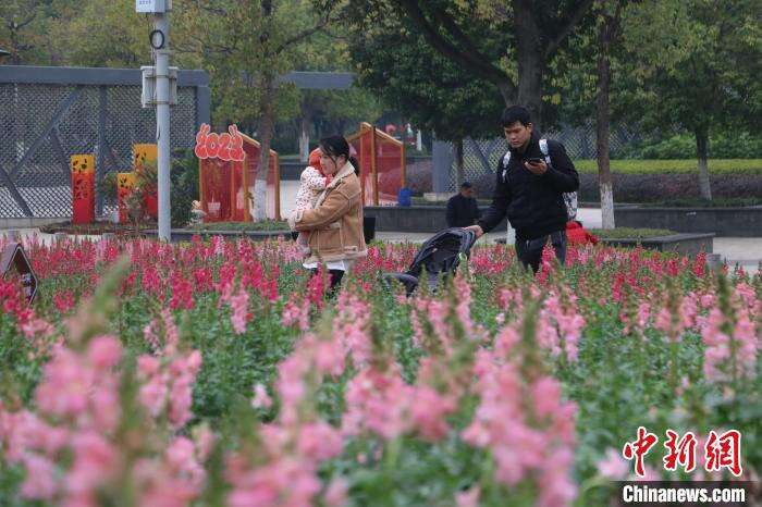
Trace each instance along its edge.
<instances>
[{"instance_id":1,"label":"dark grey baby stroller between the woman and man","mask_svg":"<svg viewBox=\"0 0 762 507\"><path fill-rule=\"evenodd\" d=\"M402 283L408 296L423 281L426 281L429 290L434 292L440 275L454 273L460 263L460 253L468 257L476 239L474 231L460 227L440 231L423 243L407 272L384 273L383 280L386 283L392 280Z\"/></svg>"}]
</instances>

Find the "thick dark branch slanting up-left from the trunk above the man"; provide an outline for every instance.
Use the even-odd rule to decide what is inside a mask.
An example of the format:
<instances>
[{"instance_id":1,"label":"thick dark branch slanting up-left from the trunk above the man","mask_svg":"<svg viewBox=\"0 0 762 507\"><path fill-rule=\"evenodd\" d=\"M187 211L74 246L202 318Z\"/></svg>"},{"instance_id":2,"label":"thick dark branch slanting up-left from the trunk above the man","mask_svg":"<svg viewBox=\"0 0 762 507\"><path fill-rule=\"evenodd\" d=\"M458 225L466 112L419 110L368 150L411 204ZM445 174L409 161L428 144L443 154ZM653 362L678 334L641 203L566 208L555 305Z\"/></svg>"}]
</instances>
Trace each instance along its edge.
<instances>
[{"instance_id":1,"label":"thick dark branch slanting up-left from the trunk above the man","mask_svg":"<svg viewBox=\"0 0 762 507\"><path fill-rule=\"evenodd\" d=\"M443 25L443 27L464 46L462 49L447 41L442 37L439 30L429 23L417 0L394 0L394 3L410 17L410 21L421 29L426 40L443 57L471 71L479 77L496 84L502 89L508 90L509 94L515 94L516 86L507 74L489 63L489 59L476 48L451 16L442 11L434 10L433 16L435 21Z\"/></svg>"}]
</instances>

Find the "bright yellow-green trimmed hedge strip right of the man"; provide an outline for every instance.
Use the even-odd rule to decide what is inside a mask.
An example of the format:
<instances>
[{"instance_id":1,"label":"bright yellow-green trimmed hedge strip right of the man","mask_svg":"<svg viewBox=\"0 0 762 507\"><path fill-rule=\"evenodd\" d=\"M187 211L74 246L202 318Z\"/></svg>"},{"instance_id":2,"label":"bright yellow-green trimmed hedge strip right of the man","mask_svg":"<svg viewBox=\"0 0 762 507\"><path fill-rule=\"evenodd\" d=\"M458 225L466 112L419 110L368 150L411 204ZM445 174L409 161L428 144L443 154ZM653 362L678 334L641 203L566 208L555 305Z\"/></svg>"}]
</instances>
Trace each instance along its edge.
<instances>
[{"instance_id":1,"label":"bright yellow-green trimmed hedge strip right of the man","mask_svg":"<svg viewBox=\"0 0 762 507\"><path fill-rule=\"evenodd\" d=\"M575 160L580 173L598 173L598 161ZM698 161L692 160L612 160L611 170L623 174L695 173ZM762 159L717 159L709 161L711 174L762 174Z\"/></svg>"}]
</instances>

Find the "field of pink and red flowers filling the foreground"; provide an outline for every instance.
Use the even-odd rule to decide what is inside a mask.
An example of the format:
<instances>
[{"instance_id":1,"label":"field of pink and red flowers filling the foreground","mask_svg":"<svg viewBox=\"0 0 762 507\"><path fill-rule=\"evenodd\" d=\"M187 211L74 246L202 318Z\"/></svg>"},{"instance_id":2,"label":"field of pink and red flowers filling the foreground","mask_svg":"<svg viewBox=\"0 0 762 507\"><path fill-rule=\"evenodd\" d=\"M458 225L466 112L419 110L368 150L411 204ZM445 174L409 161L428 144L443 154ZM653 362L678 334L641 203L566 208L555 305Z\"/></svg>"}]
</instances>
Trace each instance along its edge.
<instances>
[{"instance_id":1,"label":"field of pink and red flowers filling the foreground","mask_svg":"<svg viewBox=\"0 0 762 507\"><path fill-rule=\"evenodd\" d=\"M24 248L0 505L605 506L617 480L762 471L762 279L703 256L572 247L532 276L484 245L407 298L380 274L417 247L378 244L331 298L291 243ZM693 470L665 469L667 430ZM730 430L738 470L704 453Z\"/></svg>"}]
</instances>

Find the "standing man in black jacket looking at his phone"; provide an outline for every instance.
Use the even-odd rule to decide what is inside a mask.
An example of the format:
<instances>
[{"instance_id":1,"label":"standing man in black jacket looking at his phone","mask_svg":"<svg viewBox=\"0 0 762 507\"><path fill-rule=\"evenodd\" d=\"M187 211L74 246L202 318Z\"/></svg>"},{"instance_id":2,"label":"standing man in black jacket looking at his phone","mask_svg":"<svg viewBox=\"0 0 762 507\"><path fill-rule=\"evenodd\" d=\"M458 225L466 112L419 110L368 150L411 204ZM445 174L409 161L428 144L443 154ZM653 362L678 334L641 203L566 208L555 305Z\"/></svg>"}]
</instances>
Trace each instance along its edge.
<instances>
[{"instance_id":1,"label":"standing man in black jacket looking at his phone","mask_svg":"<svg viewBox=\"0 0 762 507\"><path fill-rule=\"evenodd\" d=\"M497 165L492 206L477 225L466 228L480 237L507 214L516 230L516 256L525 268L531 267L534 272L540 269L542 249L549 240L563 264L568 220L563 194L579 188L579 174L564 145L554 140L548 140L551 164L545 163L540 135L526 108L507 108L501 123L511 148Z\"/></svg>"}]
</instances>

